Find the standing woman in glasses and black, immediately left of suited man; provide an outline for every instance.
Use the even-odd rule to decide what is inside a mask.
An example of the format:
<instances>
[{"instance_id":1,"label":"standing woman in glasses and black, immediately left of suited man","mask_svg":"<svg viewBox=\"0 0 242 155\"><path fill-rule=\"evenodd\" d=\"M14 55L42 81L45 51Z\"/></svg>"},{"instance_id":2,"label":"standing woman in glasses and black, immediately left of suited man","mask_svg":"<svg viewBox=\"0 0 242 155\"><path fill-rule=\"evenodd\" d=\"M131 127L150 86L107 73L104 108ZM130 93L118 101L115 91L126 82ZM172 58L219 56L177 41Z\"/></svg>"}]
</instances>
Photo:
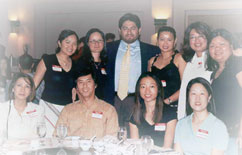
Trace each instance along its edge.
<instances>
[{"instance_id":1,"label":"standing woman in glasses and black, immediately left of suited man","mask_svg":"<svg viewBox=\"0 0 242 155\"><path fill-rule=\"evenodd\" d=\"M107 78L107 54L105 50L104 33L97 28L92 28L87 32L85 38L84 50L77 63L77 69L82 70L90 68L93 70L97 79L95 94L99 99L104 99L103 93Z\"/></svg>"}]
</instances>

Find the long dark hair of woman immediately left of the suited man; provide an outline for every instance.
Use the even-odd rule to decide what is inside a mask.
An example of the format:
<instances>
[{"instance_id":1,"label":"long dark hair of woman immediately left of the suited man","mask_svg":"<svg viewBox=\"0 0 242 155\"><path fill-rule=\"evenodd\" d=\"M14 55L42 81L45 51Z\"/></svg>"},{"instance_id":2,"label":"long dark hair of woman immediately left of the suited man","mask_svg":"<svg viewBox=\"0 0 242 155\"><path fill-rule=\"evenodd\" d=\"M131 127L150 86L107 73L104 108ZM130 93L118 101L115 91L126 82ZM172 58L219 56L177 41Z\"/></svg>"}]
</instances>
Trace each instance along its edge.
<instances>
[{"instance_id":1,"label":"long dark hair of woman immediately left of the suited man","mask_svg":"<svg viewBox=\"0 0 242 155\"><path fill-rule=\"evenodd\" d=\"M100 59L101 59L101 63L106 64L107 63L107 52L106 52L105 35L101 30L99 30L97 28L92 28L87 32L86 37L85 37L86 40L85 40L84 47L83 47L83 53L82 53L82 56L80 57L80 59L81 59L81 61L84 61L88 64L91 64L91 65L94 64L94 58L93 58L91 50L88 46L88 42L89 42L89 38L90 38L91 34L93 34L95 32L98 32L102 36L102 39L104 41L104 47L100 53Z\"/></svg>"}]
</instances>

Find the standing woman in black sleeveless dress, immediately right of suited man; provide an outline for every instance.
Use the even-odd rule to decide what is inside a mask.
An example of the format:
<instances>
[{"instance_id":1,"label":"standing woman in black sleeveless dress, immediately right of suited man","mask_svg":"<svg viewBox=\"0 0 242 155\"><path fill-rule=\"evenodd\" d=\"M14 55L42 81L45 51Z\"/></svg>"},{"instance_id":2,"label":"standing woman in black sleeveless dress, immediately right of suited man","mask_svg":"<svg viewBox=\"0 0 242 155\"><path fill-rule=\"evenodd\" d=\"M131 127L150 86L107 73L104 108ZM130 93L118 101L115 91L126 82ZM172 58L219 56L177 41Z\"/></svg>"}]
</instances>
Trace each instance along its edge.
<instances>
[{"instance_id":1,"label":"standing woman in black sleeveless dress, immediately right of suited man","mask_svg":"<svg viewBox=\"0 0 242 155\"><path fill-rule=\"evenodd\" d=\"M176 31L163 26L158 31L157 43L161 53L148 62L148 71L154 73L164 88L164 108L177 114L179 89L186 62L175 52Z\"/></svg>"}]
</instances>

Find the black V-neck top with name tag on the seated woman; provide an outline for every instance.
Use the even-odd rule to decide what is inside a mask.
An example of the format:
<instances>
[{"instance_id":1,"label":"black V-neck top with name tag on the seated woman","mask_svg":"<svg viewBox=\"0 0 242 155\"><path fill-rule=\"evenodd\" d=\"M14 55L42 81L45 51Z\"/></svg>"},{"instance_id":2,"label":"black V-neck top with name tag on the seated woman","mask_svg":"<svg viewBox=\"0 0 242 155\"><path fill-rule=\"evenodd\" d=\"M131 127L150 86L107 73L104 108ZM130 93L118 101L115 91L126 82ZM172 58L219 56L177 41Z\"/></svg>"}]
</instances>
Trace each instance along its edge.
<instances>
[{"instance_id":1,"label":"black V-neck top with name tag on the seated woman","mask_svg":"<svg viewBox=\"0 0 242 155\"><path fill-rule=\"evenodd\" d=\"M169 121L172 121L176 119L176 115L175 113L169 113L164 111L163 115L162 115L162 119L159 123L164 123L165 126ZM141 118L140 120L140 124L137 124L134 121L133 115L130 119L130 123L135 124L137 126L137 128L139 129L139 136L143 136L143 135L149 135L151 136L151 138L154 140L154 144L158 145L158 146L163 146L164 144L164 137L165 137L165 131L166 128L164 129L164 124L160 124L161 128L163 128L164 130L157 130L157 124L154 125L150 125L144 117Z\"/></svg>"}]
</instances>

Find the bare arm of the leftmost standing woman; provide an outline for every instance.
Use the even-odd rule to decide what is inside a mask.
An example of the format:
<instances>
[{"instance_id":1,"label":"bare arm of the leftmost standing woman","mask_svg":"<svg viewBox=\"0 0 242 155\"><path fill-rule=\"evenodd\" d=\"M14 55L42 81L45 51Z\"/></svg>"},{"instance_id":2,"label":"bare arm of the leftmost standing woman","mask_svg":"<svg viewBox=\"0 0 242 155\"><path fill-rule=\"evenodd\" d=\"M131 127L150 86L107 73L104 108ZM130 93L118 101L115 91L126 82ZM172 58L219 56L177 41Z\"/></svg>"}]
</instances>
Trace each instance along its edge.
<instances>
[{"instance_id":1,"label":"bare arm of the leftmost standing woman","mask_svg":"<svg viewBox=\"0 0 242 155\"><path fill-rule=\"evenodd\" d=\"M45 63L44 63L43 59L41 59L37 66L37 69L36 69L36 72L35 72L34 78L33 78L36 88L38 88L40 82L42 81L42 79L45 75L45 72L46 72Z\"/></svg>"}]
</instances>

